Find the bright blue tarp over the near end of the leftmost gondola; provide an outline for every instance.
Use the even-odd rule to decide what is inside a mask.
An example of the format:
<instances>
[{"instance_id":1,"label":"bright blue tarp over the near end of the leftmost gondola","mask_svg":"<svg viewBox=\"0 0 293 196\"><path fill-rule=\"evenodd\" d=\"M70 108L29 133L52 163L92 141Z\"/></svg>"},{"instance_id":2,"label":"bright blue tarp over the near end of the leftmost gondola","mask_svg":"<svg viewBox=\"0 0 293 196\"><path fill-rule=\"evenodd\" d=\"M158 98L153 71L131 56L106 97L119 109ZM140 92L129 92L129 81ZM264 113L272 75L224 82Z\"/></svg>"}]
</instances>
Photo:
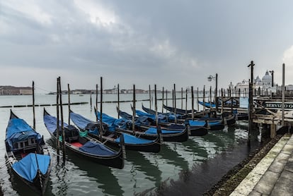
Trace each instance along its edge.
<instances>
[{"instance_id":1,"label":"bright blue tarp over the near end of the leftmost gondola","mask_svg":"<svg viewBox=\"0 0 293 196\"><path fill-rule=\"evenodd\" d=\"M38 159L38 164L36 161L36 156ZM18 173L19 176L25 178L26 180L33 182L33 179L37 175L38 172L38 166L40 169L40 172L42 174L47 173L47 170L50 165L50 156L49 155L43 155L43 154L34 154L30 153L27 156L25 156L21 161L16 162L12 165L12 168L14 171Z\"/></svg>"}]
</instances>

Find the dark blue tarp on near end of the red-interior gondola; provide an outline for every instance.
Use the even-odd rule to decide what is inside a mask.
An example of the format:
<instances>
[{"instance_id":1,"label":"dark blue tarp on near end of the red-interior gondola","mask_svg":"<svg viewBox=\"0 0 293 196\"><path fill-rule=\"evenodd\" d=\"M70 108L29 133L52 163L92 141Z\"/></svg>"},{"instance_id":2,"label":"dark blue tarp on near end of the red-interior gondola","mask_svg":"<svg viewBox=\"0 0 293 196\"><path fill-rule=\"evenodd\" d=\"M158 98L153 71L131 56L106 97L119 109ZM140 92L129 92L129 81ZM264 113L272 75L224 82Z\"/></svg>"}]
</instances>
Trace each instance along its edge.
<instances>
[{"instance_id":1,"label":"dark blue tarp on near end of the red-interior gondola","mask_svg":"<svg viewBox=\"0 0 293 196\"><path fill-rule=\"evenodd\" d=\"M116 152L105 147L105 145L91 141L86 142L86 144L84 144L82 147L79 147L79 149L83 152L88 152L99 156L113 156L117 154Z\"/></svg>"}]
</instances>

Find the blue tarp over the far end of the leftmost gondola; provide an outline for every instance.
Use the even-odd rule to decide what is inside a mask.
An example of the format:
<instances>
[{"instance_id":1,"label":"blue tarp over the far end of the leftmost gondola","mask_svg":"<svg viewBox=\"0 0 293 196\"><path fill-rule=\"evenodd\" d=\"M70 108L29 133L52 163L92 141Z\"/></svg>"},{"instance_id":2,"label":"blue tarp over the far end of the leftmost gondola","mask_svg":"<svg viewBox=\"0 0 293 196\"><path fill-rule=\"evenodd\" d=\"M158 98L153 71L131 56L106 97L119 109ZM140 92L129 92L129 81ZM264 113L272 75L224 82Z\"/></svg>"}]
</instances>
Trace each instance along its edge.
<instances>
[{"instance_id":1,"label":"blue tarp over the far end of the leftmost gondola","mask_svg":"<svg viewBox=\"0 0 293 196\"><path fill-rule=\"evenodd\" d=\"M6 142L8 142L11 149L13 149L14 142L21 142L28 140L28 138L35 138L38 142L41 139L41 135L36 133L23 119L10 119L6 129Z\"/></svg>"}]
</instances>

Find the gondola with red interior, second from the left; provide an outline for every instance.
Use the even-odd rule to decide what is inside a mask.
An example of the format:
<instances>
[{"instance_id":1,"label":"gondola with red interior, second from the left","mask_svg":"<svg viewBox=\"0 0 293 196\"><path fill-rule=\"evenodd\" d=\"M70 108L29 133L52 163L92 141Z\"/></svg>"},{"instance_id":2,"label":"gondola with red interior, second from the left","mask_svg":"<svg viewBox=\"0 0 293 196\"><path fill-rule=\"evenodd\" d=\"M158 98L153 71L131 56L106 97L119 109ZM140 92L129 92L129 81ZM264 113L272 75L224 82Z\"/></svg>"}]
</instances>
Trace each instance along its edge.
<instances>
[{"instance_id":1,"label":"gondola with red interior, second from the left","mask_svg":"<svg viewBox=\"0 0 293 196\"><path fill-rule=\"evenodd\" d=\"M56 141L57 118L51 116L44 108L43 120L52 139ZM59 123L59 126L61 126L61 123ZM60 135L62 135L61 127L59 130ZM115 151L114 149L110 149L110 147L107 147L103 143L98 142L98 140L90 140L90 138L88 137L81 137L79 135L79 130L75 128L73 125L67 125L67 123L64 123L64 132L65 140L63 141L61 137L61 142L65 142L65 147L69 149L71 152L74 152L75 154L81 157L85 157L87 159L90 159L91 161L95 161L98 164L104 166L123 169L123 140L120 140L119 151Z\"/></svg>"}]
</instances>

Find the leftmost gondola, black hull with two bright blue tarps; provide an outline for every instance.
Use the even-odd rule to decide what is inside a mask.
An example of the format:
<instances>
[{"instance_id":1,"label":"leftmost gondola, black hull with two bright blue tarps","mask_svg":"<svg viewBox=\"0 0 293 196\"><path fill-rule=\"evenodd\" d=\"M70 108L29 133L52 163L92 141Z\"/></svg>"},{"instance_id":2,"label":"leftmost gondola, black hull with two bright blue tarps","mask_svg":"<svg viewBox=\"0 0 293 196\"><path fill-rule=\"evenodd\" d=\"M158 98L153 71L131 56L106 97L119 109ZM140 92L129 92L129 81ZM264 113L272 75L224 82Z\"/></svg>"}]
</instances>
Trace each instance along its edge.
<instances>
[{"instance_id":1,"label":"leftmost gondola, black hull with two bright blue tarps","mask_svg":"<svg viewBox=\"0 0 293 196\"><path fill-rule=\"evenodd\" d=\"M39 195L44 195L52 168L44 138L11 111L5 144L10 171Z\"/></svg>"}]
</instances>

